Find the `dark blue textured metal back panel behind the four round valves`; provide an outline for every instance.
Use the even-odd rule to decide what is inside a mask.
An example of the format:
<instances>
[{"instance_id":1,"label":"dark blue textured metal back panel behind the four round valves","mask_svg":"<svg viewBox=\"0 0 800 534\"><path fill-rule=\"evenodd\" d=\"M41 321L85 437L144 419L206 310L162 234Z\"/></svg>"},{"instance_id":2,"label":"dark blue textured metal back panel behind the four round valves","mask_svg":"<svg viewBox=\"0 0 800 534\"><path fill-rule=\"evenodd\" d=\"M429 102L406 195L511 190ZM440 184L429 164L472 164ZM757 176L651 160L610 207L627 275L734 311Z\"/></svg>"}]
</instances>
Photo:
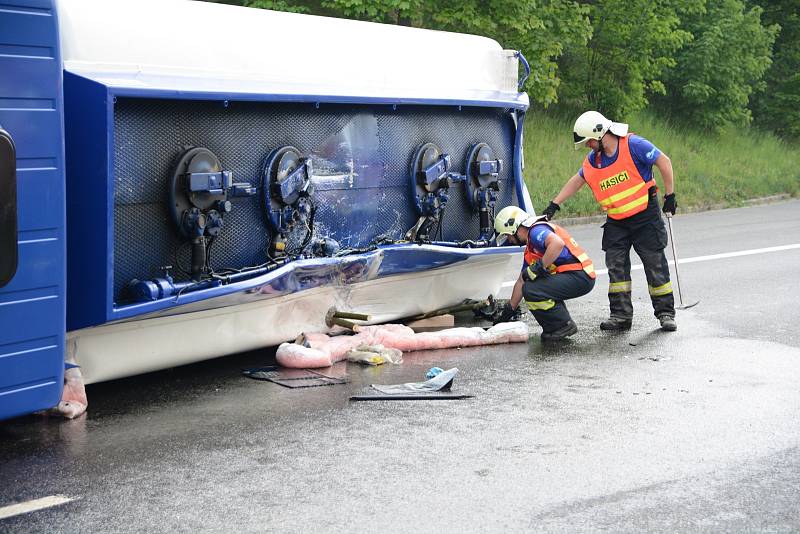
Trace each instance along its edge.
<instances>
[{"instance_id":1,"label":"dark blue textured metal back panel behind the four round valves","mask_svg":"<svg viewBox=\"0 0 800 534\"><path fill-rule=\"evenodd\" d=\"M499 109L279 104L120 98L114 114L114 293L133 278L160 276L189 265L168 212L172 165L185 146L213 151L237 182L260 186L264 158L293 145L311 156L315 236L342 247L368 246L377 236L399 239L417 213L408 175L415 151L434 142L465 171L470 147L488 143L504 161L498 205L514 201L513 122ZM215 268L265 261L269 231L260 196L236 199L225 217L211 260ZM476 239L478 214L463 184L451 188L443 221L445 240ZM290 246L304 232L290 236Z\"/></svg>"}]
</instances>

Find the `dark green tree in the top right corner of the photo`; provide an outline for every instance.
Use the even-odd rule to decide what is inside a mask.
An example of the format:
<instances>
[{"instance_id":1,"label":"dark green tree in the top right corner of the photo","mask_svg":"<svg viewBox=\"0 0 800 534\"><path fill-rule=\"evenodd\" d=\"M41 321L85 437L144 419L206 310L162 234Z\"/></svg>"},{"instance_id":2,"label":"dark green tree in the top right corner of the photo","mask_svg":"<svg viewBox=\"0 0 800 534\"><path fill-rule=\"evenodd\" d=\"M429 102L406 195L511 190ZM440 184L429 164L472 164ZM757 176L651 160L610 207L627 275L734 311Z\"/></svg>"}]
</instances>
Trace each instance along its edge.
<instances>
[{"instance_id":1,"label":"dark green tree in the top right corner of the photo","mask_svg":"<svg viewBox=\"0 0 800 534\"><path fill-rule=\"evenodd\" d=\"M754 121L787 139L800 138L800 0L757 2L764 24L780 25L764 88L754 95Z\"/></svg>"}]
</instances>

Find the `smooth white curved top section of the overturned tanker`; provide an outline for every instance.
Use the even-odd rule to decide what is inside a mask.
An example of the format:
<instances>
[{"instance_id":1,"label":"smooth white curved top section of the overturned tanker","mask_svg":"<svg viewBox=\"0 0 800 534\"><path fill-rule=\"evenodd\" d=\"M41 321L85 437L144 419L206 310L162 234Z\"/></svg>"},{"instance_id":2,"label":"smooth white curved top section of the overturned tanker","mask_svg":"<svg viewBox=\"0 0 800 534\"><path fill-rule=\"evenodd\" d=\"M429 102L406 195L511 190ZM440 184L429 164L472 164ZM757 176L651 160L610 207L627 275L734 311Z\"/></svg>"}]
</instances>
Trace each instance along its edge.
<instances>
[{"instance_id":1,"label":"smooth white curved top section of the overturned tanker","mask_svg":"<svg viewBox=\"0 0 800 534\"><path fill-rule=\"evenodd\" d=\"M64 69L164 91L527 107L494 40L189 0L57 0Z\"/></svg>"}]
</instances>

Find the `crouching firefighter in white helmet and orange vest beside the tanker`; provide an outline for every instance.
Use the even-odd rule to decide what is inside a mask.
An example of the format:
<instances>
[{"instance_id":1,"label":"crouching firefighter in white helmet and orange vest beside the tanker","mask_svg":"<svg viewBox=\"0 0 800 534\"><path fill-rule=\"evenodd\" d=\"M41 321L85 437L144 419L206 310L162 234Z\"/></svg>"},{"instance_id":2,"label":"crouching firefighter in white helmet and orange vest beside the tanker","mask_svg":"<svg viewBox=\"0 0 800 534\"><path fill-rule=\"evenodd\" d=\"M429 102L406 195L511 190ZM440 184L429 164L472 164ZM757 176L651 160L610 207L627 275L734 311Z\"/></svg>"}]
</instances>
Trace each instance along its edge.
<instances>
[{"instance_id":1,"label":"crouching firefighter in white helmet and orange vest beside the tanker","mask_svg":"<svg viewBox=\"0 0 800 534\"><path fill-rule=\"evenodd\" d=\"M542 341L558 341L576 333L578 327L564 301L594 287L594 266L586 252L566 230L544 217L531 217L517 206L500 210L494 228L498 246L525 245L522 271L495 324L511 320L524 297L542 327Z\"/></svg>"}]
</instances>

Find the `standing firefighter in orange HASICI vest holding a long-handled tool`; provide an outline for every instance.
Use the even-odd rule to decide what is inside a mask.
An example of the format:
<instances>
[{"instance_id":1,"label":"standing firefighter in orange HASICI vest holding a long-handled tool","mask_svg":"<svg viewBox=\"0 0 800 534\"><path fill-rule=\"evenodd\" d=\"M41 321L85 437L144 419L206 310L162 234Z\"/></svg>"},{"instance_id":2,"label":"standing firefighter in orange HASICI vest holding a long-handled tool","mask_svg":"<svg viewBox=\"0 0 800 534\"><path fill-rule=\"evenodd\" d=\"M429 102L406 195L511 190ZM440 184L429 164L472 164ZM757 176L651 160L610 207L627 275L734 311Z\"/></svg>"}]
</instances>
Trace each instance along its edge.
<instances>
[{"instance_id":1,"label":"standing firefighter in orange HASICI vest holding a long-handled tool","mask_svg":"<svg viewBox=\"0 0 800 534\"><path fill-rule=\"evenodd\" d=\"M631 247L639 255L647 277L650 300L661 329L677 330L675 303L664 248L667 231L658 208L653 166L664 180L663 211L675 214L672 162L647 139L628 133L628 125L612 122L597 111L578 117L573 129L575 149L592 151L544 210L551 219L559 205L586 183L606 211L603 250L606 252L611 316L600 323L603 330L628 330L633 319L631 304Z\"/></svg>"}]
</instances>

